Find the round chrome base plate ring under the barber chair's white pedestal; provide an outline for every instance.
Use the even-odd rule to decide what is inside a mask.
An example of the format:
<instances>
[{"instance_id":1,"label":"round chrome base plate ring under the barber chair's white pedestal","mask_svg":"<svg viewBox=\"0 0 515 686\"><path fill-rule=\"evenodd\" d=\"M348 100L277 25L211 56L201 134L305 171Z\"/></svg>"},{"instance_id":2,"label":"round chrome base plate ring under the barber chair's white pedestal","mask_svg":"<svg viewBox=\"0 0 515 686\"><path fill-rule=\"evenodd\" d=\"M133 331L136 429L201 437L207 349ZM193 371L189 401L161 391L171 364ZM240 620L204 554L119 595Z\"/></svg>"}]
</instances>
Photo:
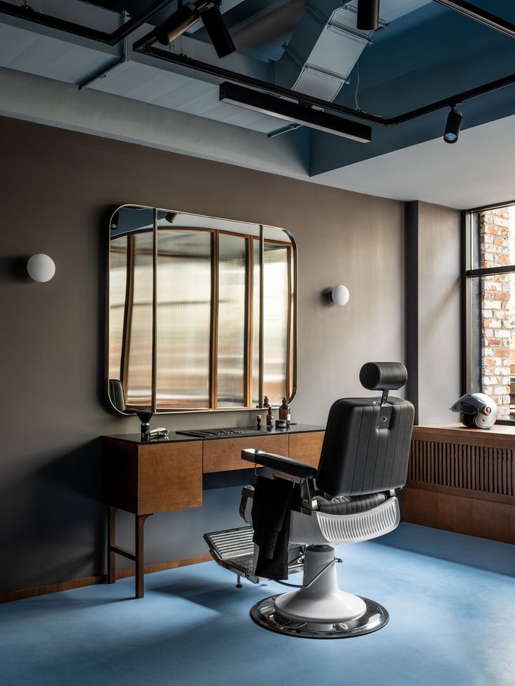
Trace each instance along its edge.
<instances>
[{"instance_id":1,"label":"round chrome base plate ring under the barber chair's white pedestal","mask_svg":"<svg viewBox=\"0 0 515 686\"><path fill-rule=\"evenodd\" d=\"M388 612L379 603L362 598L367 609L365 613L351 622L338 624L316 624L316 622L299 622L289 620L276 611L275 599L278 596L269 596L251 609L251 617L261 627L276 631L278 634L299 636L301 638L351 638L372 634L385 626L390 619ZM360 596L361 597L361 596Z\"/></svg>"}]
</instances>

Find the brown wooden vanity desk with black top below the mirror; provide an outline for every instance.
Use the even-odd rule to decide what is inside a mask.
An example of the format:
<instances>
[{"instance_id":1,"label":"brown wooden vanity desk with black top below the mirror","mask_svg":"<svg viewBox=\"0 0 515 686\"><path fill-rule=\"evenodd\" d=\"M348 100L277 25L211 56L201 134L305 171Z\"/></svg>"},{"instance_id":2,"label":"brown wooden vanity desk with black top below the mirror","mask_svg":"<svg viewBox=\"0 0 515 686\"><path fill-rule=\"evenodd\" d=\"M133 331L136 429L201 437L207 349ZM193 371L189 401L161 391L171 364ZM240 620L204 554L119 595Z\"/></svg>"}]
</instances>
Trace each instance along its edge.
<instances>
[{"instance_id":1,"label":"brown wooden vanity desk with black top below the mirror","mask_svg":"<svg viewBox=\"0 0 515 686\"><path fill-rule=\"evenodd\" d=\"M195 438L170 433L167 441L142 443L139 434L102 436L102 499L108 506L108 583L115 583L115 555L136 565L136 598L143 597L143 526L148 516L202 506L204 474L246 469L241 450L256 448L318 466L324 427L292 425L244 437ZM247 469L252 470L252 466ZM249 478L251 474L249 473ZM116 545L116 510L135 515L135 550Z\"/></svg>"}]
</instances>

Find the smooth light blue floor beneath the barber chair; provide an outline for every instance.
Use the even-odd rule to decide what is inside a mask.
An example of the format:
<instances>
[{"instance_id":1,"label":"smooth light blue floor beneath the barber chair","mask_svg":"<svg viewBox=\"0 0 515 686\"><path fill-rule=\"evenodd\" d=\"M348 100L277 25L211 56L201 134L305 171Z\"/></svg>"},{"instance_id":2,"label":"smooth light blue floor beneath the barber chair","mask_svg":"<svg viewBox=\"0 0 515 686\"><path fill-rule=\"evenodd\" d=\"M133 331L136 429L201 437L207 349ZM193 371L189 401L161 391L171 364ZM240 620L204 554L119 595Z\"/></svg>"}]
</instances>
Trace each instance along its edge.
<instances>
[{"instance_id":1,"label":"smooth light blue floor beneath the barber chair","mask_svg":"<svg viewBox=\"0 0 515 686\"><path fill-rule=\"evenodd\" d=\"M381 631L279 636L252 622L274 583L234 588L214 562L0 606L0 683L24 686L514 686L515 546L413 524L341 547L344 589Z\"/></svg>"}]
</instances>

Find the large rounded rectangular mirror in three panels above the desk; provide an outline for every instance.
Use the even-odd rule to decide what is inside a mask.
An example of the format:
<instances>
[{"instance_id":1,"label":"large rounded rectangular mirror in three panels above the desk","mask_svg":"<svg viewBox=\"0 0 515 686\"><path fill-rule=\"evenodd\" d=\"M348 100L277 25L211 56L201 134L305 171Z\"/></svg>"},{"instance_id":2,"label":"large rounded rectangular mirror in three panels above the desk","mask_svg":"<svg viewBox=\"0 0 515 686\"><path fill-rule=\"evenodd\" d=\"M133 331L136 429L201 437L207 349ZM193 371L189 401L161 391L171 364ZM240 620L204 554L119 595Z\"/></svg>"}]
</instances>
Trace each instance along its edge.
<instances>
[{"instance_id":1,"label":"large rounded rectangular mirror in three panels above the desk","mask_svg":"<svg viewBox=\"0 0 515 686\"><path fill-rule=\"evenodd\" d=\"M244 410L296 387L287 231L125 205L111 217L106 390L115 410Z\"/></svg>"}]
</instances>

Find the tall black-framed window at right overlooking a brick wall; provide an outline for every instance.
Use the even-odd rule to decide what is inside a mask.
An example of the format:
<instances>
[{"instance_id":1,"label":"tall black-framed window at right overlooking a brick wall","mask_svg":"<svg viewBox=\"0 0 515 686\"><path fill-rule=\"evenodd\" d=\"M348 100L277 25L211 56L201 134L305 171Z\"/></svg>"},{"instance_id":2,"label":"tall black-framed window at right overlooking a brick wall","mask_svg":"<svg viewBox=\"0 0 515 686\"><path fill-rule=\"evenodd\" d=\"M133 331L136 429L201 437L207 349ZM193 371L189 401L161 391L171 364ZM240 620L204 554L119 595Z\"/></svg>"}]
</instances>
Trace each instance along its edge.
<instances>
[{"instance_id":1,"label":"tall black-framed window at right overlooking a brick wall","mask_svg":"<svg viewBox=\"0 0 515 686\"><path fill-rule=\"evenodd\" d=\"M467 390L515 420L515 203L466 214Z\"/></svg>"}]
</instances>

